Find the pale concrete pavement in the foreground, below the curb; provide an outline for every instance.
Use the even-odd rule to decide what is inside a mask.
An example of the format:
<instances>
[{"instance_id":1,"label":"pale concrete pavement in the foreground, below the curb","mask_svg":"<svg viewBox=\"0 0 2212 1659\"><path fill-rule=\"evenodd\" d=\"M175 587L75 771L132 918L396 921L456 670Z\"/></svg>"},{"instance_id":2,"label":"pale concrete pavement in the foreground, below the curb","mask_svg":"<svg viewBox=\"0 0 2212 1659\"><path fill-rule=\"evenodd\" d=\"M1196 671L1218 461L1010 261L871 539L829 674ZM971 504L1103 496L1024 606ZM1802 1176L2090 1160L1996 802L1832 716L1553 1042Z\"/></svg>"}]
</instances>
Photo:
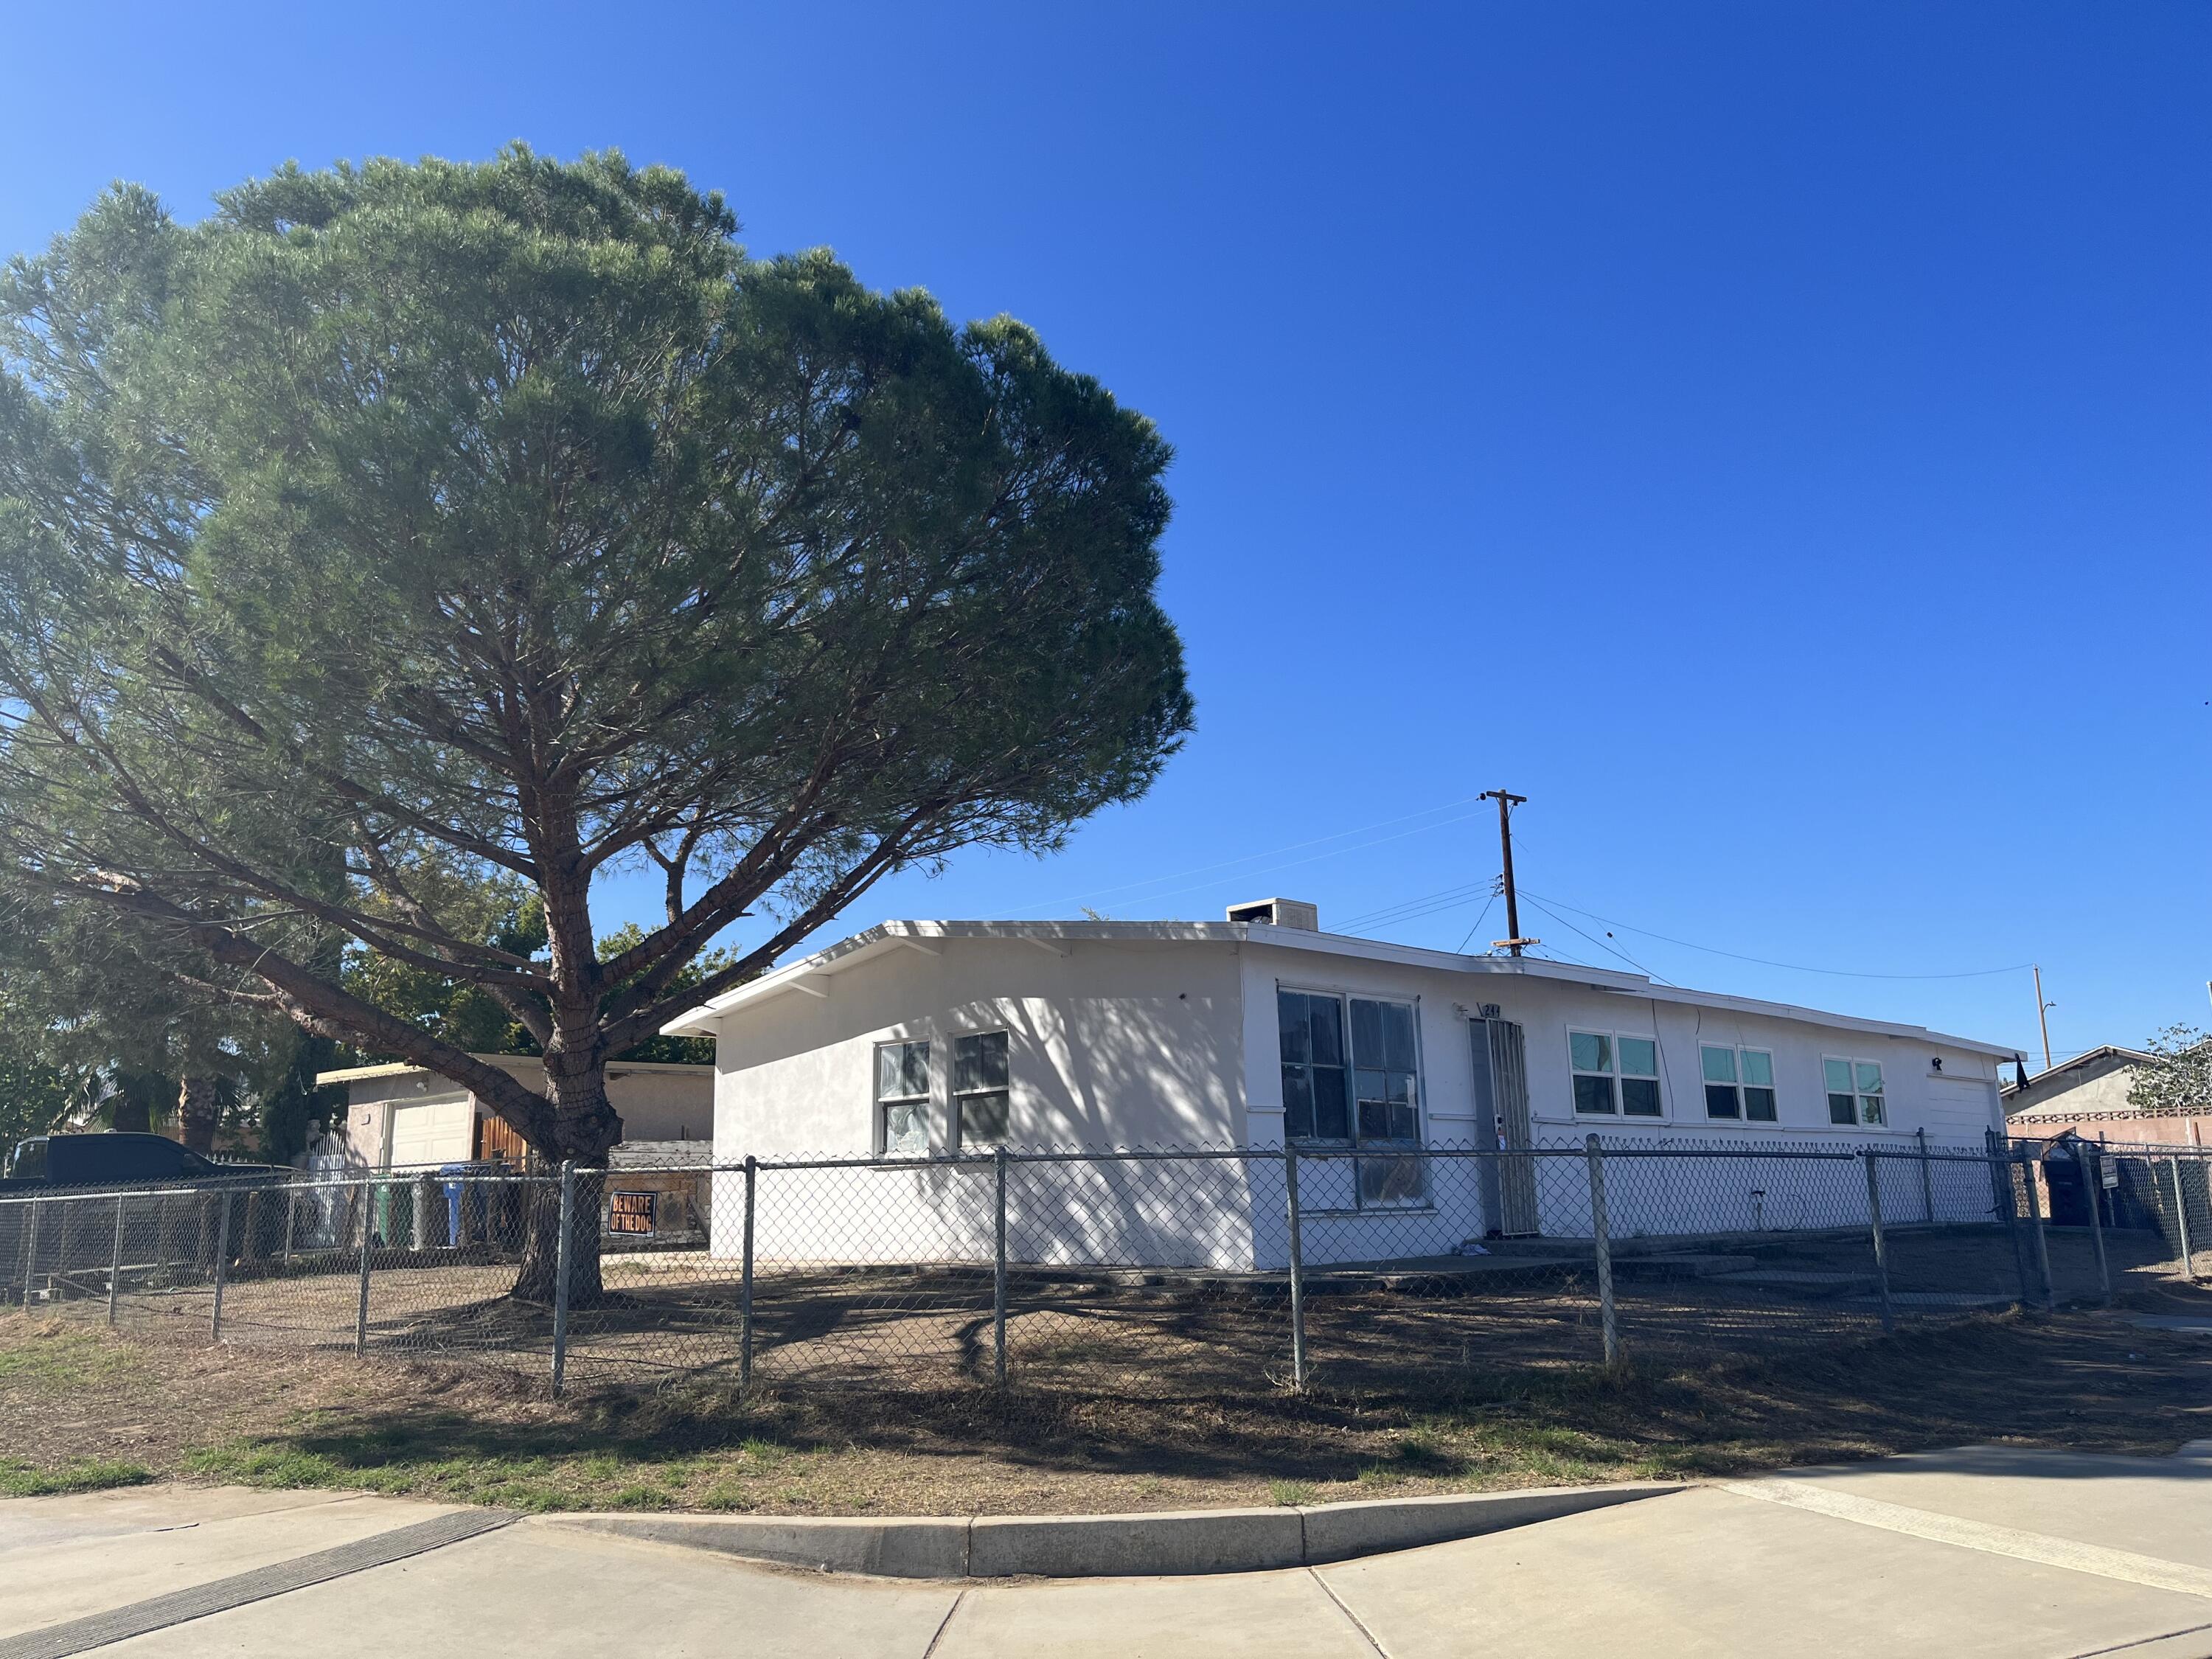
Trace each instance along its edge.
<instances>
[{"instance_id":1,"label":"pale concrete pavement in the foreground, below the curb","mask_svg":"<svg viewBox=\"0 0 2212 1659\"><path fill-rule=\"evenodd\" d=\"M1175 1579L827 1577L522 1520L124 1641L66 1637L95 1630L71 1626L91 1615L261 1584L272 1562L440 1513L195 1489L0 1504L0 1659L387 1659L456 1644L593 1659L2212 1655L2212 1460L2011 1449L1719 1482L1338 1566Z\"/></svg>"}]
</instances>

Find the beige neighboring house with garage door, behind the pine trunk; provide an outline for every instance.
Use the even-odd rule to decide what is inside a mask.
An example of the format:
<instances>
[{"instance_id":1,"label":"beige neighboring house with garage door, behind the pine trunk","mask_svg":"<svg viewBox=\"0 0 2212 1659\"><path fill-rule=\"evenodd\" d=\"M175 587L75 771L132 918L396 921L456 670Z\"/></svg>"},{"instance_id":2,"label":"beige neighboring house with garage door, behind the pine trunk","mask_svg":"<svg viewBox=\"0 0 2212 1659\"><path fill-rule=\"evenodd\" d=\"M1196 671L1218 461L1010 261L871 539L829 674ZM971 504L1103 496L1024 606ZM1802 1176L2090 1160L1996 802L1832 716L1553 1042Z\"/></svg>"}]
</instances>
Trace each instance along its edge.
<instances>
[{"instance_id":1,"label":"beige neighboring house with garage door, behind the pine trunk","mask_svg":"<svg viewBox=\"0 0 2212 1659\"><path fill-rule=\"evenodd\" d=\"M524 1088L544 1091L544 1062L535 1055L476 1055L511 1073ZM347 1161L372 1170L420 1164L460 1164L504 1157L522 1164L524 1146L500 1117L456 1082L405 1062L347 1066L316 1073L316 1084L345 1088ZM606 1068L606 1097L622 1117L624 1144L703 1141L714 1130L714 1071L615 1062Z\"/></svg>"}]
</instances>

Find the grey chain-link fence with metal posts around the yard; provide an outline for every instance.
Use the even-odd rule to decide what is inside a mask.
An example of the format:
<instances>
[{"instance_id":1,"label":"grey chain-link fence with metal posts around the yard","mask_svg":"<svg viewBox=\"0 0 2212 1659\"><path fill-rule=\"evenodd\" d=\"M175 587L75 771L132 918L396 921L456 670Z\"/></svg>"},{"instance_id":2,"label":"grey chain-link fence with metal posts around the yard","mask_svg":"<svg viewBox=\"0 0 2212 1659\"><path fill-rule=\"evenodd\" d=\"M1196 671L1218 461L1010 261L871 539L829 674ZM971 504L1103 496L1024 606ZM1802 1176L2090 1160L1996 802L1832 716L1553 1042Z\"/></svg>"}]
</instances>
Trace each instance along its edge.
<instances>
[{"instance_id":1,"label":"grey chain-link fence with metal posts around the yard","mask_svg":"<svg viewBox=\"0 0 2212 1659\"><path fill-rule=\"evenodd\" d=\"M2163 1296L2205 1250L2197 1148L630 1157L0 1197L0 1307L555 1391L1380 1396Z\"/></svg>"}]
</instances>

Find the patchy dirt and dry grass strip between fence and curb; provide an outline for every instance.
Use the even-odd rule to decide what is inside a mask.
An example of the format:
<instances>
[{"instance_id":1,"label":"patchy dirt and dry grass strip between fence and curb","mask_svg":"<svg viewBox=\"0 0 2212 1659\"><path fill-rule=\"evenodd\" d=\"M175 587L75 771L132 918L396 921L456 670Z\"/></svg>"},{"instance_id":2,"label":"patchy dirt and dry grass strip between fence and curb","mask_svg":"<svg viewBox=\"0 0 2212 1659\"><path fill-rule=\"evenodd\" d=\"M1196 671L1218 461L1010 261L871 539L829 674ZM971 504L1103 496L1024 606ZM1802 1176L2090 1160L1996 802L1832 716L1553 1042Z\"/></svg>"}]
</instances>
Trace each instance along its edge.
<instances>
[{"instance_id":1,"label":"patchy dirt and dry grass strip between fence and curb","mask_svg":"<svg viewBox=\"0 0 2212 1659\"><path fill-rule=\"evenodd\" d=\"M2194 1303L2194 1298L2192 1298ZM520 1509L1068 1513L1690 1478L2002 1440L2212 1436L2212 1338L1986 1316L1701 1369L1460 1374L1394 1396L1212 1400L969 1383L723 1383L553 1402L447 1365L192 1347L0 1316L0 1458L58 1473L349 1486Z\"/></svg>"}]
</instances>

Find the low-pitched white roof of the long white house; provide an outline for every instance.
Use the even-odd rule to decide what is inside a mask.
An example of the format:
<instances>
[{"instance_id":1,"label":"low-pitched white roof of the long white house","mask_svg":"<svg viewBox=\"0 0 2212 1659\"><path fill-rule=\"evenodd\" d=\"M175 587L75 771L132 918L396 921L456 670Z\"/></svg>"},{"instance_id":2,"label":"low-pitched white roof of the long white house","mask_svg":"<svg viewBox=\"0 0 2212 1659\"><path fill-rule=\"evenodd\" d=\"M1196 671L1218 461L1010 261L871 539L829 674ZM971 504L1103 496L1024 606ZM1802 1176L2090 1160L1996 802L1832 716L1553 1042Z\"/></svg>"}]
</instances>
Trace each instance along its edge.
<instances>
[{"instance_id":1,"label":"low-pitched white roof of the long white house","mask_svg":"<svg viewBox=\"0 0 2212 1659\"><path fill-rule=\"evenodd\" d=\"M1677 1002L1697 1009L1730 1009L1734 1013L1761 1013L1776 1020L1803 1020L1807 1024L1834 1026L1838 1031L1867 1031L1887 1037L1920 1037L1949 1048L2011 1060L2011 1044L1978 1042L1973 1037L1951 1037L1927 1026L1898 1024L1893 1020L1860 1020L1849 1013L1805 1009L1794 1002L1761 1002L1759 998L1725 995L1721 991L1690 991L1674 984L1659 984L1646 973L1621 973L1617 969L1582 967L1577 962L1553 962L1537 956L1462 956L1458 951L1429 951L1418 945L1391 945L1387 940L1356 938L1352 933L1318 933L1310 927L1276 927L1272 922L878 922L865 933L841 938L827 949L814 951L790 967L748 980L719 998L670 1020L661 1026L668 1037L710 1037L726 1013L737 1013L757 1002L768 1002L787 993L825 995L814 984L845 969L858 967L887 951L936 953L933 940L953 938L1006 938L1029 940L1042 949L1066 953L1066 947L1093 942L1192 942L1192 945L1272 945L1290 951L1314 951L1318 956L1347 956L1365 962L1396 962L1400 967L1433 969L1440 973L1467 973L1469 978L1504 975L1528 980L1559 980L1586 984L1593 991L1617 991L1624 995L1650 998L1652 1002Z\"/></svg>"}]
</instances>

